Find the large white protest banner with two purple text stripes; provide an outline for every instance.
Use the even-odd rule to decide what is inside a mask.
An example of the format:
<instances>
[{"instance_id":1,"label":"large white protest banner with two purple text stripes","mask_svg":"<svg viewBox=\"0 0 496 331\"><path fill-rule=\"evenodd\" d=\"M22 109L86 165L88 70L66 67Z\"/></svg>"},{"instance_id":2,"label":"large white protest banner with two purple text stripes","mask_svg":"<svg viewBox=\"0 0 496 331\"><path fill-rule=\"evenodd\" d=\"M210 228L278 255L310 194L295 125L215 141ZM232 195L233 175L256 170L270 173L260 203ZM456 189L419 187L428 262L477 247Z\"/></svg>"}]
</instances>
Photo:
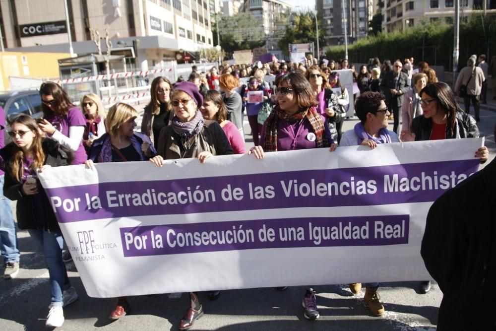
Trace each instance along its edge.
<instances>
[{"instance_id":1,"label":"large white protest banner with two purple text stripes","mask_svg":"<svg viewBox=\"0 0 496 331\"><path fill-rule=\"evenodd\" d=\"M477 171L481 145L101 163L40 180L91 297L425 280L427 212Z\"/></svg>"}]
</instances>

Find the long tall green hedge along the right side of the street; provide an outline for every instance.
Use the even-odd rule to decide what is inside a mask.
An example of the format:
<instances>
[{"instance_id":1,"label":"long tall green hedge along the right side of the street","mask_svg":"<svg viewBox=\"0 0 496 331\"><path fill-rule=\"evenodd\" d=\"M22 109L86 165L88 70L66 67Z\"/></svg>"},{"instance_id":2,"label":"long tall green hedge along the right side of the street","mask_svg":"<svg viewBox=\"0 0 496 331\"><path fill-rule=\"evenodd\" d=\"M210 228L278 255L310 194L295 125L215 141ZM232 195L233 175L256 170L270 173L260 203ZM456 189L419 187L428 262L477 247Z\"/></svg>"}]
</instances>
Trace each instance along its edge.
<instances>
[{"instance_id":1,"label":"long tall green hedge along the right side of the street","mask_svg":"<svg viewBox=\"0 0 496 331\"><path fill-rule=\"evenodd\" d=\"M421 24L404 31L380 32L348 45L350 62L367 63L370 58L381 61L414 57L416 63L427 61L430 65L453 66L452 24L443 21ZM458 70L466 65L472 54L496 54L496 16L473 15L460 23ZM344 58L344 46L335 46L326 53L326 59Z\"/></svg>"}]
</instances>

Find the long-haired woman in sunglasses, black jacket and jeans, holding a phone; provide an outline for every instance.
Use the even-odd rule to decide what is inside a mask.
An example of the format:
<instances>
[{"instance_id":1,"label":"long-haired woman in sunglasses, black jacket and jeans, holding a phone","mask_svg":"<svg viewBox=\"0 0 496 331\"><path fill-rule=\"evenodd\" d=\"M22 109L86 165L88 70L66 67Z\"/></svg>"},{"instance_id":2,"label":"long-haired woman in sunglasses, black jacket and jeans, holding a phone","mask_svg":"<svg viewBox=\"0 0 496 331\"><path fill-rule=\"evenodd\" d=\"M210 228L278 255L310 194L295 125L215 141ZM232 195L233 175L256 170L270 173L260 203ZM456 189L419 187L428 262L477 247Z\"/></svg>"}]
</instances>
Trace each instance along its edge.
<instances>
[{"instance_id":1,"label":"long-haired woman in sunglasses, black jacket and jeans, holding a phone","mask_svg":"<svg viewBox=\"0 0 496 331\"><path fill-rule=\"evenodd\" d=\"M80 112L79 112L80 113ZM82 114L81 114L82 116ZM54 139L43 138L35 120L25 114L15 117L10 125L12 142L0 150L4 162L5 197L17 200L17 225L41 244L49 271L52 290L47 327L62 327L63 306L77 299L70 286L62 261L62 233L38 173L49 168L68 165L70 153Z\"/></svg>"}]
</instances>

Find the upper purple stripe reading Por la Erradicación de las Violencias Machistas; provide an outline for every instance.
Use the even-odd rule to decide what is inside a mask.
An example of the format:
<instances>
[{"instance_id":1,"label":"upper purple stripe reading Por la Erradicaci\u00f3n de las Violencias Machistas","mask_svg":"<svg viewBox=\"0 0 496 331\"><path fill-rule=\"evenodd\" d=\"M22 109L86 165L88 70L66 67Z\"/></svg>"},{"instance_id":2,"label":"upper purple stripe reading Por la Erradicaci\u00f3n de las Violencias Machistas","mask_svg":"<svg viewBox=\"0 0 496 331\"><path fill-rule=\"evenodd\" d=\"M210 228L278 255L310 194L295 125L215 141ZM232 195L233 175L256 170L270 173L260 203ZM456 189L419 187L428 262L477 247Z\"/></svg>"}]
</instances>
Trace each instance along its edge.
<instances>
[{"instance_id":1,"label":"upper purple stripe reading Por la Erradicaci\u00f3n de las Violencias Machistas","mask_svg":"<svg viewBox=\"0 0 496 331\"><path fill-rule=\"evenodd\" d=\"M478 159L47 189L59 222L288 207L428 202L475 173ZM79 199L66 209L65 199ZM98 199L99 203L95 202ZM71 204L68 204L70 207Z\"/></svg>"}]
</instances>

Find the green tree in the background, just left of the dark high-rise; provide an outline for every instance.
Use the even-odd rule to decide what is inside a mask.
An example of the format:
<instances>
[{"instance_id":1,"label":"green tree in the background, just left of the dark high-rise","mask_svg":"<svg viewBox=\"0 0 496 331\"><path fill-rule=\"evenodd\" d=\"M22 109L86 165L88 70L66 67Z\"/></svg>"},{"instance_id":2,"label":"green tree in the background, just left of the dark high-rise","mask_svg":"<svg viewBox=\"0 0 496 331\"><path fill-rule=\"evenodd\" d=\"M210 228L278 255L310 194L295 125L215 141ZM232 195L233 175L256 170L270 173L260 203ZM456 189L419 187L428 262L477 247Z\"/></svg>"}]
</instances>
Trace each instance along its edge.
<instances>
[{"instance_id":1,"label":"green tree in the background, just left of the dark high-rise","mask_svg":"<svg viewBox=\"0 0 496 331\"><path fill-rule=\"evenodd\" d=\"M278 42L279 49L284 55L289 55L289 44L306 44L313 42L314 47L317 47L315 43L315 16L310 11L291 13L286 19L289 21L288 27L284 36ZM318 19L318 26L323 26L321 19ZM325 31L320 28L318 30L318 40L320 45L323 46L325 42Z\"/></svg>"}]
</instances>

